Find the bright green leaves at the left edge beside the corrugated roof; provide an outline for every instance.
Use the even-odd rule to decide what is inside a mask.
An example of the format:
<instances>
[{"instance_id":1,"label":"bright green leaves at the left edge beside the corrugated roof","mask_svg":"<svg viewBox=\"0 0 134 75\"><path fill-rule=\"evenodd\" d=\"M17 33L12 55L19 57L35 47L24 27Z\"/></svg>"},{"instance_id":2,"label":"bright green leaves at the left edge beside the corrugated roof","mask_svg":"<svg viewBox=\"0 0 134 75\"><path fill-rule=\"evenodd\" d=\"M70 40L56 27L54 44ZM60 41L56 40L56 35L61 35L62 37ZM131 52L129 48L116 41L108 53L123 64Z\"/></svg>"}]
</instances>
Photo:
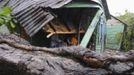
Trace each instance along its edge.
<instances>
[{"instance_id":1,"label":"bright green leaves at the left edge beside the corrugated roof","mask_svg":"<svg viewBox=\"0 0 134 75\"><path fill-rule=\"evenodd\" d=\"M14 23L14 18L11 16L12 9L8 6L3 7L2 10L0 10L0 26L6 25L7 28L13 32L16 25Z\"/></svg>"}]
</instances>

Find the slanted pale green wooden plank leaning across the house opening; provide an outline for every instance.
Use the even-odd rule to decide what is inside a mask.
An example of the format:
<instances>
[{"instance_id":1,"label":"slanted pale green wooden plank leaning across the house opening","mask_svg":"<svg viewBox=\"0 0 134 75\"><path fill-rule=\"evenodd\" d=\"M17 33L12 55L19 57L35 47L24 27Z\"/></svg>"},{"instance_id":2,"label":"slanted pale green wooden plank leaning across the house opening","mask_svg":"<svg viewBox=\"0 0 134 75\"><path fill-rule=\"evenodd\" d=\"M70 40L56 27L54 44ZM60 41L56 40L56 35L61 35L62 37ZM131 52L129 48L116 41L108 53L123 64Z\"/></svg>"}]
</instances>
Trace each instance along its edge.
<instances>
[{"instance_id":1,"label":"slanted pale green wooden plank leaning across the house opening","mask_svg":"<svg viewBox=\"0 0 134 75\"><path fill-rule=\"evenodd\" d=\"M91 24L89 25L89 27L88 27L88 29L87 29L87 31L86 31L81 43L80 43L80 46L87 47L87 45L88 45L88 43L89 43L89 41L91 39L91 36L92 36L96 26L97 26L97 23L98 23L98 21L100 19L100 16L101 16L102 12L103 12L102 10L97 11L95 17L93 18Z\"/></svg>"}]
</instances>

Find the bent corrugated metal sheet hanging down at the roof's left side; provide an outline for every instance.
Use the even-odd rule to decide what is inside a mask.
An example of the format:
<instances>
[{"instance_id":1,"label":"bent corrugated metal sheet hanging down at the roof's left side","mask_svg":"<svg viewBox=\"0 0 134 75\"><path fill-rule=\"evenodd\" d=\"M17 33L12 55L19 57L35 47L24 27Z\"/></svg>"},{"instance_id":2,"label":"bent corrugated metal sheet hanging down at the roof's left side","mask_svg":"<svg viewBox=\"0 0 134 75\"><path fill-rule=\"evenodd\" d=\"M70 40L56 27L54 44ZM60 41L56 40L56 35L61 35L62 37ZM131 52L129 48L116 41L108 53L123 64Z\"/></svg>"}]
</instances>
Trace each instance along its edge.
<instances>
[{"instance_id":1,"label":"bent corrugated metal sheet hanging down at the roof's left side","mask_svg":"<svg viewBox=\"0 0 134 75\"><path fill-rule=\"evenodd\" d=\"M30 36L36 34L46 23L54 18L49 12L43 11L40 7L29 7L15 16Z\"/></svg>"}]
</instances>

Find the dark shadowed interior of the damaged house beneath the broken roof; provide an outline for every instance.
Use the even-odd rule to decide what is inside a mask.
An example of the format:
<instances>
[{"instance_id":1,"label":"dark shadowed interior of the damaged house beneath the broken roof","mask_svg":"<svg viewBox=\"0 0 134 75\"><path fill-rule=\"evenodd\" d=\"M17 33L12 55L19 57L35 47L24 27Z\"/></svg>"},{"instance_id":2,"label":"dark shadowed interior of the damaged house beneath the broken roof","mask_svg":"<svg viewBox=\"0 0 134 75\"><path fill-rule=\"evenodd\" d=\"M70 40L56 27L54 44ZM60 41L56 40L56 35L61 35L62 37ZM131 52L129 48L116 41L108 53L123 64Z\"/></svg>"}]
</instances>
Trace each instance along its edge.
<instances>
[{"instance_id":1,"label":"dark shadowed interior of the damaged house beneath the broken roof","mask_svg":"<svg viewBox=\"0 0 134 75\"><path fill-rule=\"evenodd\" d=\"M33 45L46 46L46 47L61 47L61 46L71 46L72 44L67 44L67 39L75 36L78 45L83 38L84 33L79 33L80 28L82 27L85 32L90 25L94 15L96 14L97 9L95 8L60 8L60 9L49 9L51 14L55 16L54 21L59 21L64 24L68 31L71 31L70 26L75 27L77 30L73 34L55 34L50 38L46 38L49 34L40 30L34 37L30 38L30 41ZM54 39L53 39L54 38ZM63 42L63 44L62 44ZM52 46L52 44L56 44ZM64 45L64 44L67 45ZM61 45L59 45L61 44Z\"/></svg>"}]
</instances>

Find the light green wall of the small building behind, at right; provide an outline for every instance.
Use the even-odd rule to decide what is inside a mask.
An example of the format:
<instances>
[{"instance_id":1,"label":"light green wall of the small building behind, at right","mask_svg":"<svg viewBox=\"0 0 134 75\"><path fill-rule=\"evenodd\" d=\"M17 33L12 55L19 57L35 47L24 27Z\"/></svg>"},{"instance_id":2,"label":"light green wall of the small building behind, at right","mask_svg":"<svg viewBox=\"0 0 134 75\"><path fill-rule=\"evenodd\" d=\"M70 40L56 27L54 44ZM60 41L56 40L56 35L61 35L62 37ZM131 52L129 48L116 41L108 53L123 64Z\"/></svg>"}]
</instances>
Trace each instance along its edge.
<instances>
[{"instance_id":1,"label":"light green wall of the small building behind, at right","mask_svg":"<svg viewBox=\"0 0 134 75\"><path fill-rule=\"evenodd\" d=\"M120 49L121 41L118 42L116 39L116 34L118 32L123 32L124 25L122 23L115 23L114 25L107 25L107 38L106 38L106 48L110 49ZM122 40L122 37L120 37Z\"/></svg>"}]
</instances>

